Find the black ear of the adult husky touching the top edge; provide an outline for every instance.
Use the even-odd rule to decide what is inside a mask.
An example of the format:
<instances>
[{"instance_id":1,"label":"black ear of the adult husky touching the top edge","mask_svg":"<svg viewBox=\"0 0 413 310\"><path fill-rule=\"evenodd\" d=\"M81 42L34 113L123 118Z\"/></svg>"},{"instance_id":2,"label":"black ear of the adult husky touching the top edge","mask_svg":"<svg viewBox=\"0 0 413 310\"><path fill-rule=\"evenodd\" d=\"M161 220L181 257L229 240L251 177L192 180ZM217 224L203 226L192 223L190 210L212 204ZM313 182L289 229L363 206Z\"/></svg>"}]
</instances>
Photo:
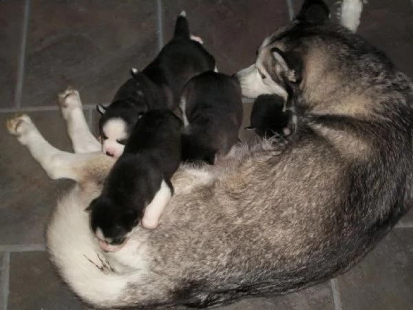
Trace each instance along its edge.
<instances>
[{"instance_id":1,"label":"black ear of the adult husky touching the top edge","mask_svg":"<svg viewBox=\"0 0 413 310\"><path fill-rule=\"evenodd\" d=\"M321 24L330 19L330 9L322 0L305 0L296 20L303 23Z\"/></svg>"}]
</instances>

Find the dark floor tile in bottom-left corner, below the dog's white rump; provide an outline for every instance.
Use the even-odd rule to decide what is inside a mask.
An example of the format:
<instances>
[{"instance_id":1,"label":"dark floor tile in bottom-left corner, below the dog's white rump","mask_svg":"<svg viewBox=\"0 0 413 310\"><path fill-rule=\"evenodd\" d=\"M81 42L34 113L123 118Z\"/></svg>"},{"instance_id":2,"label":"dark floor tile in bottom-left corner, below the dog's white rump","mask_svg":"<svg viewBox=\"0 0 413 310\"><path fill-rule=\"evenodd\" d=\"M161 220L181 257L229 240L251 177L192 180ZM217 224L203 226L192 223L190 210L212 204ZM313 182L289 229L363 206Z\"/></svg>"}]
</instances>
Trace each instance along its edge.
<instances>
[{"instance_id":1,"label":"dark floor tile in bottom-left corner, below the dog's white rump","mask_svg":"<svg viewBox=\"0 0 413 310\"><path fill-rule=\"evenodd\" d=\"M8 310L81 310L88 307L56 276L45 252L12 253Z\"/></svg>"}]
</instances>

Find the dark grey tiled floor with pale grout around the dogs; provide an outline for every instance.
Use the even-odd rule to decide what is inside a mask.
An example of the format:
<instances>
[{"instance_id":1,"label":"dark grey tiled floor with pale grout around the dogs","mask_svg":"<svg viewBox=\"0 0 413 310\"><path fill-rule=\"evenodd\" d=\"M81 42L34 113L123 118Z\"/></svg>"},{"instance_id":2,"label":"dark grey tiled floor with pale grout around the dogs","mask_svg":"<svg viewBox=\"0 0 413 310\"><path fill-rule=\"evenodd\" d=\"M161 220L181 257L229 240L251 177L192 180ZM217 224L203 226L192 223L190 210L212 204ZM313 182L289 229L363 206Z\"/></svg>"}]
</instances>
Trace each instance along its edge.
<instances>
[{"instance_id":1,"label":"dark grey tiled floor with pale grout around the dogs","mask_svg":"<svg viewBox=\"0 0 413 310\"><path fill-rule=\"evenodd\" d=\"M334 1L329 0L331 8ZM288 22L301 0L3 0L0 2L0 123L30 112L57 147L70 150L56 93L81 90L89 124L134 65L143 68L187 10L191 30L222 72L249 65L266 34ZM359 33L413 76L411 0L370 0ZM246 122L251 105L245 103ZM52 181L0 126L0 309L88 309L47 262L43 229L56 198L72 186ZM246 133L242 131L242 136ZM356 267L282 297L220 309L413 309L413 212Z\"/></svg>"}]
</instances>

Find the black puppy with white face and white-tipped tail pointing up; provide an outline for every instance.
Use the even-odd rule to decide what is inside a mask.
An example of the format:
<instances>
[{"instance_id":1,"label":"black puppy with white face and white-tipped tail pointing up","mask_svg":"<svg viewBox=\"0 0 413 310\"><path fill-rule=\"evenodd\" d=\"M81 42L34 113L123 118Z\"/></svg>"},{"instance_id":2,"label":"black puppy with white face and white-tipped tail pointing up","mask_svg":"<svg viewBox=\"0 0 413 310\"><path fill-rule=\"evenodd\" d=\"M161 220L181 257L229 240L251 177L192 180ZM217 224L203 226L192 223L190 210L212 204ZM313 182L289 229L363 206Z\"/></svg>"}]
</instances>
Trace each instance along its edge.
<instances>
[{"instance_id":1,"label":"black puppy with white face and white-tipped tail pointing up","mask_svg":"<svg viewBox=\"0 0 413 310\"><path fill-rule=\"evenodd\" d=\"M119 92L127 98L117 99L100 120L103 152L118 157L126 139L142 112L153 109L176 110L185 83L204 71L214 70L215 59L202 46L202 40L191 36L185 12L176 21L171 41L147 67L139 72L132 69L134 79L127 81ZM113 107L112 107L113 105Z\"/></svg>"}]
</instances>

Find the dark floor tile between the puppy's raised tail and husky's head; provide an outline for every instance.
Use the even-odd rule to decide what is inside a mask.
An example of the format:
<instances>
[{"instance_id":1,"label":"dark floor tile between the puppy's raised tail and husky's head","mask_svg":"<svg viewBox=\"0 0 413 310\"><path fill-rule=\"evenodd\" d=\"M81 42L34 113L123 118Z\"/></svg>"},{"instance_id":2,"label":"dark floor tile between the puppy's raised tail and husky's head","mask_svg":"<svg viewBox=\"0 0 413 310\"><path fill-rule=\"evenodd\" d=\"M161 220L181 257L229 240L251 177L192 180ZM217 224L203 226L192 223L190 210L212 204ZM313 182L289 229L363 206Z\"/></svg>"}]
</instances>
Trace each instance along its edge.
<instances>
[{"instance_id":1,"label":"dark floor tile between the puppy's raised tail and husky's head","mask_svg":"<svg viewBox=\"0 0 413 310\"><path fill-rule=\"evenodd\" d=\"M266 35L288 21L284 0L165 0L164 41L171 39L176 17L187 11L189 28L204 40L218 70L233 74L251 65Z\"/></svg>"}]
</instances>

